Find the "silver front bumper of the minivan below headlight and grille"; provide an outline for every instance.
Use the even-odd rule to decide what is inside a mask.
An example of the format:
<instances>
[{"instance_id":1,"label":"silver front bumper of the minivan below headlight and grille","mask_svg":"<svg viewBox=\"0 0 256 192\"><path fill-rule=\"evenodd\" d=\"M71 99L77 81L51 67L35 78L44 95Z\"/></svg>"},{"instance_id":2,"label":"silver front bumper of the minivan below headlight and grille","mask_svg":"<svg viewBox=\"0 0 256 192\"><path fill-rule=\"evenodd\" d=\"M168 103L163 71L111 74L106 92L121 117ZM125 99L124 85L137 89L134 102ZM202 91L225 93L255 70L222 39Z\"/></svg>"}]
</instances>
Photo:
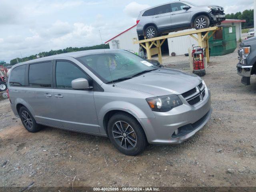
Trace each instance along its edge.
<instances>
[{"instance_id":1,"label":"silver front bumper of the minivan below headlight and grille","mask_svg":"<svg viewBox=\"0 0 256 192\"><path fill-rule=\"evenodd\" d=\"M210 90L207 90L202 103L191 106L183 101L183 105L173 108L169 112L154 112L156 118L140 119L149 143L152 144L179 144L193 136L210 119L212 114ZM194 125L188 134L173 137L178 128Z\"/></svg>"}]
</instances>

